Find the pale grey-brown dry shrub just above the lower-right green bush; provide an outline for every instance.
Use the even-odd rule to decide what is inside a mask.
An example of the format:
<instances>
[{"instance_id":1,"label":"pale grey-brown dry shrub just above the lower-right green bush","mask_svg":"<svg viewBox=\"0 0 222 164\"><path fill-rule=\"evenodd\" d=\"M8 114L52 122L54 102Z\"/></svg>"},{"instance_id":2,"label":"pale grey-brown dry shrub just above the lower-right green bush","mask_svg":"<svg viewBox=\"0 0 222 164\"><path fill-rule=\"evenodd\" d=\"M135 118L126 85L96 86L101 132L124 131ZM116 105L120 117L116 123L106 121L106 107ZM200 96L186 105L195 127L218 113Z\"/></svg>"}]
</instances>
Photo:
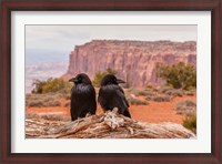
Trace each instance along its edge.
<instances>
[{"instance_id":1,"label":"pale grey-brown dry shrub just above the lower-right green bush","mask_svg":"<svg viewBox=\"0 0 222 164\"><path fill-rule=\"evenodd\" d=\"M176 113L192 115L196 104L191 100L184 100L176 104Z\"/></svg>"}]
</instances>

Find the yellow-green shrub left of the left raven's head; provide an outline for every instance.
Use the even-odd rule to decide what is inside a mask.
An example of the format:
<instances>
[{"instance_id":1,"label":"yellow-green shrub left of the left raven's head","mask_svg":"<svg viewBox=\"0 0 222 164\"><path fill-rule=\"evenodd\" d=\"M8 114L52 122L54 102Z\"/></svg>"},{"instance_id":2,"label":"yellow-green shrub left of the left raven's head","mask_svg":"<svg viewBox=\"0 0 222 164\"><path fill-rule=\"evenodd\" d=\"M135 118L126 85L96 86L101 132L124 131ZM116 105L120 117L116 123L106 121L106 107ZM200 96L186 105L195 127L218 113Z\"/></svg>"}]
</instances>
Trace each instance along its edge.
<instances>
[{"instance_id":1,"label":"yellow-green shrub left of the left raven's head","mask_svg":"<svg viewBox=\"0 0 222 164\"><path fill-rule=\"evenodd\" d=\"M50 92L60 92L60 93L70 93L72 83L64 81L63 79L48 79L48 80L34 80L32 85L34 89L32 93L50 93Z\"/></svg>"}]
</instances>

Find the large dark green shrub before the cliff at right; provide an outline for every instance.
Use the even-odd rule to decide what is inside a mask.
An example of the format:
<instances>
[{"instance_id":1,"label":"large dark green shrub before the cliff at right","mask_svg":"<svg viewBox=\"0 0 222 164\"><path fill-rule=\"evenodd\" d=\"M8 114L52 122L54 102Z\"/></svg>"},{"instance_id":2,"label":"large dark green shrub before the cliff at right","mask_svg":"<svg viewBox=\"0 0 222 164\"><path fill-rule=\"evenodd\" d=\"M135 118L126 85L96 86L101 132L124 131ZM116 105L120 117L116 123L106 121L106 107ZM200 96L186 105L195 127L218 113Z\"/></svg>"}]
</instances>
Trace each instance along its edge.
<instances>
[{"instance_id":1,"label":"large dark green shrub before the cliff at right","mask_svg":"<svg viewBox=\"0 0 222 164\"><path fill-rule=\"evenodd\" d=\"M196 86L196 70L191 64L179 62L172 65L157 64L157 76L167 81L168 85L174 89L184 89Z\"/></svg>"}]
</instances>

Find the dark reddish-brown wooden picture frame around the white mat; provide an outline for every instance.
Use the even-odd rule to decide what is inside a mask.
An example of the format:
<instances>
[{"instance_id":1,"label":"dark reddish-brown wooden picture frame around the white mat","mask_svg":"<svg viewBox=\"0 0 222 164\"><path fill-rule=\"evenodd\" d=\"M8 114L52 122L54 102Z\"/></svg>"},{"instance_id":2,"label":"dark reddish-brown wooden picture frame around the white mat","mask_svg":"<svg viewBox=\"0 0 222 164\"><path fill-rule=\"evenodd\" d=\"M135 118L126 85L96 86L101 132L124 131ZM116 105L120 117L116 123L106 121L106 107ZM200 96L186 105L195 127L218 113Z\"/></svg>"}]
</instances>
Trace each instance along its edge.
<instances>
[{"instance_id":1,"label":"dark reddish-brown wooden picture frame around the white mat","mask_svg":"<svg viewBox=\"0 0 222 164\"><path fill-rule=\"evenodd\" d=\"M221 85L221 0L3 0L1 2L0 55L0 163L222 163ZM11 153L11 11L211 11L212 17L212 151L200 154L179 153ZM210 96L210 95L209 95Z\"/></svg>"}]
</instances>

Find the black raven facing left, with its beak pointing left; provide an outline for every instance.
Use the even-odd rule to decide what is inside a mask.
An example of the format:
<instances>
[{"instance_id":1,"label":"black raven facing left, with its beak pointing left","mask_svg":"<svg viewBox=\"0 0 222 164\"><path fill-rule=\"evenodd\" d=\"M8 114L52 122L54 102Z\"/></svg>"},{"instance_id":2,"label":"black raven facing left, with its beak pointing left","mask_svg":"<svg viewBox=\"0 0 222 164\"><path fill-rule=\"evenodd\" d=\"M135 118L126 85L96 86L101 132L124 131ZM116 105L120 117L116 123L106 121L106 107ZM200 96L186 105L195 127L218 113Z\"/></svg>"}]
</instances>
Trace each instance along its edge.
<instances>
[{"instance_id":1,"label":"black raven facing left, with its beak pointing left","mask_svg":"<svg viewBox=\"0 0 222 164\"><path fill-rule=\"evenodd\" d=\"M70 112L72 121L78 117L84 117L88 113L95 114L95 91L89 76L84 73L80 73L69 81L74 82L74 86L71 90Z\"/></svg>"}]
</instances>

